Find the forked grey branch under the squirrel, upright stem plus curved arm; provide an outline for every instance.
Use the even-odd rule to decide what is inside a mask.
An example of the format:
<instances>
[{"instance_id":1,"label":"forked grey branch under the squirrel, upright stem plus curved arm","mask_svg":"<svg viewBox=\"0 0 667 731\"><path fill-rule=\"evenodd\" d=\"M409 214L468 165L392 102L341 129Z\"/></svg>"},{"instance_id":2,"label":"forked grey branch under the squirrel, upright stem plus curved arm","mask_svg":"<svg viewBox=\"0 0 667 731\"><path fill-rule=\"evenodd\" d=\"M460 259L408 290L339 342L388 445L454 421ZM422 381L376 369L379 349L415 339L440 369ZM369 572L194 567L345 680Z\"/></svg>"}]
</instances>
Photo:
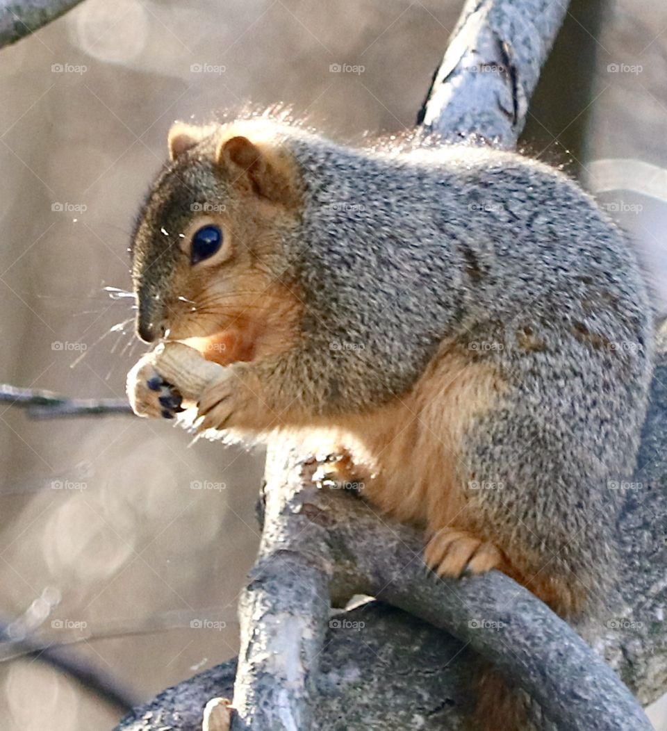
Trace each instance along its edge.
<instances>
[{"instance_id":1,"label":"forked grey branch under the squirrel, upright stem plus curved arm","mask_svg":"<svg viewBox=\"0 0 667 731\"><path fill-rule=\"evenodd\" d=\"M318 490L298 450L285 458L284 445L275 445L266 477L270 510L259 564L247 590L252 594L261 586L263 600L241 603L243 621L254 633L246 630L242 640L235 702L248 694L255 703L280 695L289 678L273 676L267 686L267 679L254 667L253 659L270 657L272 647L280 646L297 658L301 651L310 673L318 672L316 663L307 664L313 649L316 654L321 650L318 624L309 624L310 616L302 624L291 624L289 617L295 612L302 615L304 608L309 613L316 605L313 614L316 623L321 622L324 582L329 577L332 599L339 604L353 594L370 594L451 632L514 677L559 728L577 727L585 718L590 731L651 729L628 689L601 657L506 575L494 571L457 581L432 579L424 572L419 531L381 520L370 506L351 496ZM304 598L308 599L305 607L301 605ZM283 600L285 605L270 613L271 602ZM277 625L282 625L278 632ZM300 629L302 634L297 635ZM287 645L281 643L282 632L291 636ZM299 640L308 642L308 654L298 647ZM303 674L300 667L299 678ZM307 701L305 692L294 698L292 717L303 715ZM266 716L259 724L256 709L245 713L245 705L238 711L242 721L238 728L291 727L284 720L281 725L275 716ZM309 726L297 723L294 728Z\"/></svg>"}]
</instances>

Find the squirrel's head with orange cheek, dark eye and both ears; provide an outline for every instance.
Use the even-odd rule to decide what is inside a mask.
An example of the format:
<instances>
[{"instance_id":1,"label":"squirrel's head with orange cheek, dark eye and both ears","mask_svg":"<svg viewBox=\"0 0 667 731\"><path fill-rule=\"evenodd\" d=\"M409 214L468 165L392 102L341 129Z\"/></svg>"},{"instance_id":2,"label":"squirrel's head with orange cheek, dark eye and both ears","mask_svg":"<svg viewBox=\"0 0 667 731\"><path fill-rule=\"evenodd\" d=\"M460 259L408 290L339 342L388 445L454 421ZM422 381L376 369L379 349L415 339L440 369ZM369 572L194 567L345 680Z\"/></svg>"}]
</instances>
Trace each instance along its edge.
<instances>
[{"instance_id":1,"label":"squirrel's head with orange cheek, dark eye and both ears","mask_svg":"<svg viewBox=\"0 0 667 731\"><path fill-rule=\"evenodd\" d=\"M137 333L195 338L221 363L251 360L297 319L279 261L302 211L294 157L270 123L246 120L175 124L169 159L132 237Z\"/></svg>"}]
</instances>

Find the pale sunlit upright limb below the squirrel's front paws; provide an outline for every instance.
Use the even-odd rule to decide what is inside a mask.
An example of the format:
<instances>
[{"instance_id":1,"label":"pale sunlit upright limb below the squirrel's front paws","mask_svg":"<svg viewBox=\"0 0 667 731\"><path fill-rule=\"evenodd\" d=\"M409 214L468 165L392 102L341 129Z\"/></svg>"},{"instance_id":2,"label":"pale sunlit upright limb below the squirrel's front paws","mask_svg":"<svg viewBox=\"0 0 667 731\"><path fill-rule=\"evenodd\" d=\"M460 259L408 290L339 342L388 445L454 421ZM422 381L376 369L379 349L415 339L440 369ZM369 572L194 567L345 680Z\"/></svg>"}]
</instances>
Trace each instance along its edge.
<instances>
[{"instance_id":1,"label":"pale sunlit upright limb below the squirrel's front paws","mask_svg":"<svg viewBox=\"0 0 667 731\"><path fill-rule=\"evenodd\" d=\"M278 455L267 463L278 460ZM287 475L276 467L275 477ZM314 678L329 618L334 565L315 520L291 501L300 473L267 485L259 561L240 600L241 645L234 705L237 729L309 729L315 711ZM283 489L284 488L284 489Z\"/></svg>"}]
</instances>

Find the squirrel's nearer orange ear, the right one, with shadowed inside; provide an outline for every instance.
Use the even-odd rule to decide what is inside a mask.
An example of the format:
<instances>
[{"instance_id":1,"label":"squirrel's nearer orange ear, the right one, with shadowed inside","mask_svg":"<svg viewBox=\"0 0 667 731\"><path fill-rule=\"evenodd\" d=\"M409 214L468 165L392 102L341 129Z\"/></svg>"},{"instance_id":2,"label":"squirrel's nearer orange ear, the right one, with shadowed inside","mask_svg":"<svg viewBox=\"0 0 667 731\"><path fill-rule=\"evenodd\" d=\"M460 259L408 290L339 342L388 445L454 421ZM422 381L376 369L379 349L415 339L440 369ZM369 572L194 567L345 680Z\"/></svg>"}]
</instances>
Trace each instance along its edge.
<instances>
[{"instance_id":1,"label":"squirrel's nearer orange ear, the right one, with shadowed inside","mask_svg":"<svg viewBox=\"0 0 667 731\"><path fill-rule=\"evenodd\" d=\"M235 180L245 178L257 195L287 206L295 204L291 175L280 155L236 135L221 141L216 158L218 164L232 170Z\"/></svg>"}]
</instances>

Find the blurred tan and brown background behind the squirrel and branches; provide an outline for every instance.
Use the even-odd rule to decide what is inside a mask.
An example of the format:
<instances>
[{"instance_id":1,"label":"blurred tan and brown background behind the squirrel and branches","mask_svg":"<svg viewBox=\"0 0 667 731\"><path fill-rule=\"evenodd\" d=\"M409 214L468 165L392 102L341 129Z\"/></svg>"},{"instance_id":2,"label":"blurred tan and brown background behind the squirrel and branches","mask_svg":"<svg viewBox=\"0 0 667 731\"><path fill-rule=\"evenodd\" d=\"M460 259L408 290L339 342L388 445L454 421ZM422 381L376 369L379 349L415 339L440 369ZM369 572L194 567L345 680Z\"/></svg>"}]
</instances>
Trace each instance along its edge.
<instances>
[{"instance_id":1,"label":"blurred tan and brown background behind the squirrel and branches","mask_svg":"<svg viewBox=\"0 0 667 731\"><path fill-rule=\"evenodd\" d=\"M400 132L461 7L85 0L0 50L0 380L123 397L143 346L131 300L104 288L130 287L129 231L172 121L285 102L339 140ZM666 77L661 0L575 0L522 138L598 192L643 252L660 308ZM15 636L73 643L136 700L236 653L261 454L190 445L166 421L35 421L5 404L0 459L0 620ZM118 721L40 659L0 659L2 731Z\"/></svg>"}]
</instances>

